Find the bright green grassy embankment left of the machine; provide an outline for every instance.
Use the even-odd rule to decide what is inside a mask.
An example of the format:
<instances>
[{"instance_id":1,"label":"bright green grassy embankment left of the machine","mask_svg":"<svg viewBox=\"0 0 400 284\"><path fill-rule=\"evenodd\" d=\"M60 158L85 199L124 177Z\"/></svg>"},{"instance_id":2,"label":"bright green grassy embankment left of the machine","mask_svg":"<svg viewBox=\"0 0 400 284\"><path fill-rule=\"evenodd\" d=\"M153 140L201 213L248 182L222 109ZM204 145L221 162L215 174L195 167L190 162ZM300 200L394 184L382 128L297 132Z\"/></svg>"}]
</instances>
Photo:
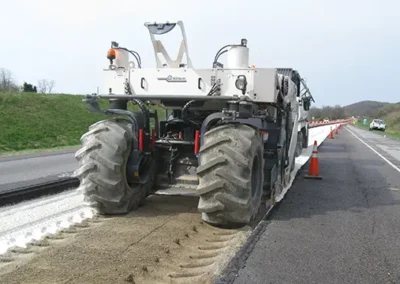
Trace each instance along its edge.
<instances>
[{"instance_id":1,"label":"bright green grassy embankment left of the machine","mask_svg":"<svg viewBox=\"0 0 400 284\"><path fill-rule=\"evenodd\" d=\"M0 155L75 148L91 124L110 118L91 113L82 99L78 95L0 93ZM107 101L100 100L100 104L106 108ZM158 115L163 118L165 114L159 109Z\"/></svg>"}]
</instances>

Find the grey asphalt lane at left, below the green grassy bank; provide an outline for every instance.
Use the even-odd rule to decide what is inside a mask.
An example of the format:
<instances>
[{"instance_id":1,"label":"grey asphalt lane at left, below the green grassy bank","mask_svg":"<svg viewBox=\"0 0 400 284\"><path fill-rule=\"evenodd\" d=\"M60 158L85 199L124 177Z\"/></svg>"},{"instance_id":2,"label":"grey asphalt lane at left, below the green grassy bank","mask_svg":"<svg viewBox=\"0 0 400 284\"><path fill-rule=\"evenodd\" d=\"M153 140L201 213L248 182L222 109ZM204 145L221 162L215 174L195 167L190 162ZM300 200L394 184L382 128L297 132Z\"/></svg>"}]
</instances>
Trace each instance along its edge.
<instances>
[{"instance_id":1,"label":"grey asphalt lane at left, below the green grassy bank","mask_svg":"<svg viewBox=\"0 0 400 284\"><path fill-rule=\"evenodd\" d=\"M76 150L0 158L0 192L70 176Z\"/></svg>"}]
</instances>

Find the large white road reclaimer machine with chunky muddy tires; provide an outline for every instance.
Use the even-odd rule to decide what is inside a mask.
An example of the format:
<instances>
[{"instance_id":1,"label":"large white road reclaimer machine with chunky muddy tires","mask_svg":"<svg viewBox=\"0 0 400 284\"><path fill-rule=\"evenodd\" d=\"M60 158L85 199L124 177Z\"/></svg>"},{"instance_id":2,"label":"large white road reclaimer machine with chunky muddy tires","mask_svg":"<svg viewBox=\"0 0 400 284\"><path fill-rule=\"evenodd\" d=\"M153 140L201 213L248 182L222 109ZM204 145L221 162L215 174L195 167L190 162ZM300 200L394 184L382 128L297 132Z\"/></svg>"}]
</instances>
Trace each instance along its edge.
<instances>
[{"instance_id":1,"label":"large white road reclaimer machine with chunky muddy tires","mask_svg":"<svg viewBox=\"0 0 400 284\"><path fill-rule=\"evenodd\" d=\"M248 224L262 200L275 202L308 146L309 89L294 69L249 66L246 39L218 50L212 68L196 69L181 21L145 27L156 68L112 42L104 90L85 96L91 111L111 117L81 138L80 190L100 214L125 214L152 194L192 194L204 221ZM173 60L160 38L177 28Z\"/></svg>"}]
</instances>

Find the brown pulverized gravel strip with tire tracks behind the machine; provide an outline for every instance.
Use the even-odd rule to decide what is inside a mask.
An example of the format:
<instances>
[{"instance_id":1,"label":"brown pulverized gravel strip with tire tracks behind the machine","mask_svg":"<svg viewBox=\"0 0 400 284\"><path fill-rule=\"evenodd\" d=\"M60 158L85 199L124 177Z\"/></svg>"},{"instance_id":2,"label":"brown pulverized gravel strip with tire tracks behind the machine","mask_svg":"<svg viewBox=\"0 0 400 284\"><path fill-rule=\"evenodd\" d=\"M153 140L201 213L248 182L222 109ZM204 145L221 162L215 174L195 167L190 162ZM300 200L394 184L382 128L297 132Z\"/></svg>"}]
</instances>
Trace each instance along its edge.
<instances>
[{"instance_id":1,"label":"brown pulverized gravel strip with tire tracks behind the machine","mask_svg":"<svg viewBox=\"0 0 400 284\"><path fill-rule=\"evenodd\" d=\"M0 282L212 283L250 227L201 221L198 198L151 196L128 215L99 217L0 259Z\"/></svg>"}]
</instances>

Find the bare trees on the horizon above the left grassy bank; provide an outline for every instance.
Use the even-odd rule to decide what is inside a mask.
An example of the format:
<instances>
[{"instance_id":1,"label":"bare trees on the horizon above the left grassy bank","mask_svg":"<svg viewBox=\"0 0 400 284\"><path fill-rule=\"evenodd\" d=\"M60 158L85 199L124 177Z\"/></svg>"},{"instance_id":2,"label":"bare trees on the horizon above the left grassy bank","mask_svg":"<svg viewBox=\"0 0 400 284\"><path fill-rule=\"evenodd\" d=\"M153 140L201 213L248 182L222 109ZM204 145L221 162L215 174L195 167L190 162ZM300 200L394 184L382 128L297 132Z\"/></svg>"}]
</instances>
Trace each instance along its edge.
<instances>
[{"instance_id":1,"label":"bare trees on the horizon above the left grassy bank","mask_svg":"<svg viewBox=\"0 0 400 284\"><path fill-rule=\"evenodd\" d=\"M29 93L52 93L55 88L54 80L41 79L37 85L24 82L18 85L15 82L12 72L5 68L0 68L0 92L29 92Z\"/></svg>"}]
</instances>

